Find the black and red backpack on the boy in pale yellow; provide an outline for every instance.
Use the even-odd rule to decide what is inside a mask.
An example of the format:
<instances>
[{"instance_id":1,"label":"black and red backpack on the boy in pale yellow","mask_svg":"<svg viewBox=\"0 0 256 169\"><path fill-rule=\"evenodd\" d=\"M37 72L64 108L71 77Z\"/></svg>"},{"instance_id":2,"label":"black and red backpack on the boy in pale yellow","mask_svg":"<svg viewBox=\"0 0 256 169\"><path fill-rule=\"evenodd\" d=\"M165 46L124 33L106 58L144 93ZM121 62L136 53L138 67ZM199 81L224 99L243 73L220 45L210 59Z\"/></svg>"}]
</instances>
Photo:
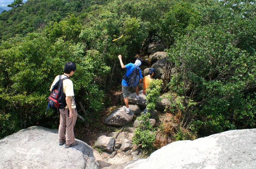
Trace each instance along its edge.
<instances>
[{"instance_id":1,"label":"black and red backpack on the boy in pale yellow","mask_svg":"<svg viewBox=\"0 0 256 169\"><path fill-rule=\"evenodd\" d=\"M63 92L63 81L66 79L69 79L68 76L61 79L61 75L59 75L59 81L52 86L52 92L48 97L48 106L45 114L47 113L49 106L52 109L64 109L67 106L66 94Z\"/></svg>"}]
</instances>

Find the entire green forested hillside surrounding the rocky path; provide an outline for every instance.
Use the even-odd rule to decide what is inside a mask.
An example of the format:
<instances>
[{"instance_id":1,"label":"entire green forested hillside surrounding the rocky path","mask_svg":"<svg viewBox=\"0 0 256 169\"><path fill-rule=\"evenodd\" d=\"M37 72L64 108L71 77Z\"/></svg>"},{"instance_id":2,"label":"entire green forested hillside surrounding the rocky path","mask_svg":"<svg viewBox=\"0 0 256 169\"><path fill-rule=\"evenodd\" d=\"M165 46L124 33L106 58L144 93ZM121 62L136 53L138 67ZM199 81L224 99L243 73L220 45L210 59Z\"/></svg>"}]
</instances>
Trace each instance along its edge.
<instances>
[{"instance_id":1,"label":"entire green forested hillside surrounding the rocky path","mask_svg":"<svg viewBox=\"0 0 256 169\"><path fill-rule=\"evenodd\" d=\"M255 9L255 1L240 0L28 0L2 13L0 137L56 127L44 122L46 98L69 60L77 64L76 102L88 122L97 119L124 74L118 54L133 61L159 39L168 52L165 112L180 128L200 136L255 128Z\"/></svg>"}]
</instances>

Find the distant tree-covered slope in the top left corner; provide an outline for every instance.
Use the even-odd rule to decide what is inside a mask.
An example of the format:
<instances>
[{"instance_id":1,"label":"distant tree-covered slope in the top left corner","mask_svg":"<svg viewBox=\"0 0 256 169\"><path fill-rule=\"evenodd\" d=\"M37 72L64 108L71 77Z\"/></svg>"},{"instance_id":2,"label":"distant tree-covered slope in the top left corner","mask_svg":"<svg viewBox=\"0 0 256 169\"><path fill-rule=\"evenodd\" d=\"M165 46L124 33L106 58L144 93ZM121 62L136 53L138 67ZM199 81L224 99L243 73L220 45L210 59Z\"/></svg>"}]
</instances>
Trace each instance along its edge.
<instances>
[{"instance_id":1,"label":"distant tree-covered slope in the top left corner","mask_svg":"<svg viewBox=\"0 0 256 169\"><path fill-rule=\"evenodd\" d=\"M0 14L0 39L8 39L16 34L40 30L50 21L59 22L68 15L78 16L92 4L104 4L104 0L28 0L21 6L15 0L12 10ZM18 8L17 8L18 7Z\"/></svg>"}]
</instances>

